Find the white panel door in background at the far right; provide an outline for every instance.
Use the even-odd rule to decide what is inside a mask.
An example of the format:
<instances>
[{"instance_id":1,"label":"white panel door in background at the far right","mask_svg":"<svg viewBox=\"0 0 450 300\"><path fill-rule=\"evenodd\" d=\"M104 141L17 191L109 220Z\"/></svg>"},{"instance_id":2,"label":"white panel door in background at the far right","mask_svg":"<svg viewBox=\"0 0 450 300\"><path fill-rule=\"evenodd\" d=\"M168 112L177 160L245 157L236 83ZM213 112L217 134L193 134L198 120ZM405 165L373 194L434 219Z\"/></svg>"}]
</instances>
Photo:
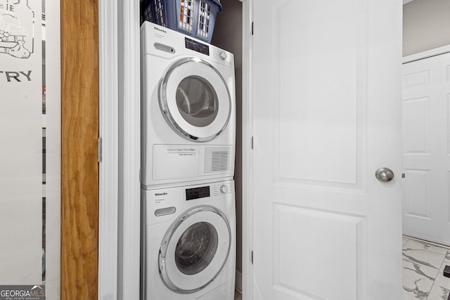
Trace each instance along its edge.
<instances>
[{"instance_id":1,"label":"white panel door in background at the far right","mask_svg":"<svg viewBox=\"0 0 450 300\"><path fill-rule=\"evenodd\" d=\"M403 65L403 233L450 246L450 53Z\"/></svg>"}]
</instances>

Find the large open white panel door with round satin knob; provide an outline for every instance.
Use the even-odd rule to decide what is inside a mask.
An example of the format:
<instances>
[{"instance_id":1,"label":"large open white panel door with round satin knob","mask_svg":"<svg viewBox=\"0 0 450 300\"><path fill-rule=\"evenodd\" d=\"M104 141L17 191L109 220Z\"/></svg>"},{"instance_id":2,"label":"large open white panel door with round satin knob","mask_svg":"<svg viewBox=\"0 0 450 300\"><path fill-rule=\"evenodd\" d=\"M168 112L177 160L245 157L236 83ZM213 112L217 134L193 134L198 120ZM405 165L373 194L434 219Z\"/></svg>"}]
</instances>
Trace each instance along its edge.
<instances>
[{"instance_id":1,"label":"large open white panel door with round satin knob","mask_svg":"<svg viewBox=\"0 0 450 300\"><path fill-rule=\"evenodd\" d=\"M401 1L253 17L252 298L401 299Z\"/></svg>"}]
</instances>

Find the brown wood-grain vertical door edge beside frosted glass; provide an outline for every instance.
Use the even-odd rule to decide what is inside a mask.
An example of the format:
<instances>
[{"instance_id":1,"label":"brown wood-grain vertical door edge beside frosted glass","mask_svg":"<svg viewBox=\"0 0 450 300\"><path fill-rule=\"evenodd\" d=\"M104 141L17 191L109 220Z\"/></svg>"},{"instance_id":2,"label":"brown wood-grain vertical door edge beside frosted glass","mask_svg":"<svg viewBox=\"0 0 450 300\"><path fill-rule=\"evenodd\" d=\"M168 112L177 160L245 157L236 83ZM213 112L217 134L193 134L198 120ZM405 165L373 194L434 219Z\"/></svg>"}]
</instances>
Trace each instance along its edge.
<instances>
[{"instance_id":1,"label":"brown wood-grain vertical door edge beside frosted glass","mask_svg":"<svg viewBox=\"0 0 450 300\"><path fill-rule=\"evenodd\" d=\"M98 0L61 0L61 299L97 299Z\"/></svg>"}]
</instances>

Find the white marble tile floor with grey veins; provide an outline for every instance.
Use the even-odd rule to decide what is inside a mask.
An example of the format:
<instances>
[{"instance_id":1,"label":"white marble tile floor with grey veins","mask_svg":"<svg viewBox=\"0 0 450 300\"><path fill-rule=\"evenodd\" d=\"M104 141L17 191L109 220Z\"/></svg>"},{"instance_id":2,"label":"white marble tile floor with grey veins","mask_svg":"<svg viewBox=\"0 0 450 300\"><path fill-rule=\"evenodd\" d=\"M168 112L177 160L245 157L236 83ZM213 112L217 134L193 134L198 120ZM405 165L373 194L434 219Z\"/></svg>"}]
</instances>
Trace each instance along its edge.
<instances>
[{"instance_id":1,"label":"white marble tile floor with grey veins","mask_svg":"<svg viewBox=\"0 0 450 300\"><path fill-rule=\"evenodd\" d=\"M403 300L447 300L450 278L450 249L403 237Z\"/></svg>"}]
</instances>

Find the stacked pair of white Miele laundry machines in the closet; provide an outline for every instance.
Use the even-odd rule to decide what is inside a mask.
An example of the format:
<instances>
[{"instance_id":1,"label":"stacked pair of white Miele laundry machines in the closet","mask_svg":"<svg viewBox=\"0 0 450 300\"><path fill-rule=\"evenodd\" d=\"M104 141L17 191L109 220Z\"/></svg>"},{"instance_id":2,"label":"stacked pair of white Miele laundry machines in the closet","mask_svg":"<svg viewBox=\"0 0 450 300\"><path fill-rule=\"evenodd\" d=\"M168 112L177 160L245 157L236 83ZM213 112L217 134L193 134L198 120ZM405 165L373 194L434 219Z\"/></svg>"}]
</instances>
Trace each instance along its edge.
<instances>
[{"instance_id":1,"label":"stacked pair of white Miele laundry machines in the closet","mask_svg":"<svg viewBox=\"0 0 450 300\"><path fill-rule=\"evenodd\" d=\"M141 26L141 299L231 300L233 54Z\"/></svg>"}]
</instances>

